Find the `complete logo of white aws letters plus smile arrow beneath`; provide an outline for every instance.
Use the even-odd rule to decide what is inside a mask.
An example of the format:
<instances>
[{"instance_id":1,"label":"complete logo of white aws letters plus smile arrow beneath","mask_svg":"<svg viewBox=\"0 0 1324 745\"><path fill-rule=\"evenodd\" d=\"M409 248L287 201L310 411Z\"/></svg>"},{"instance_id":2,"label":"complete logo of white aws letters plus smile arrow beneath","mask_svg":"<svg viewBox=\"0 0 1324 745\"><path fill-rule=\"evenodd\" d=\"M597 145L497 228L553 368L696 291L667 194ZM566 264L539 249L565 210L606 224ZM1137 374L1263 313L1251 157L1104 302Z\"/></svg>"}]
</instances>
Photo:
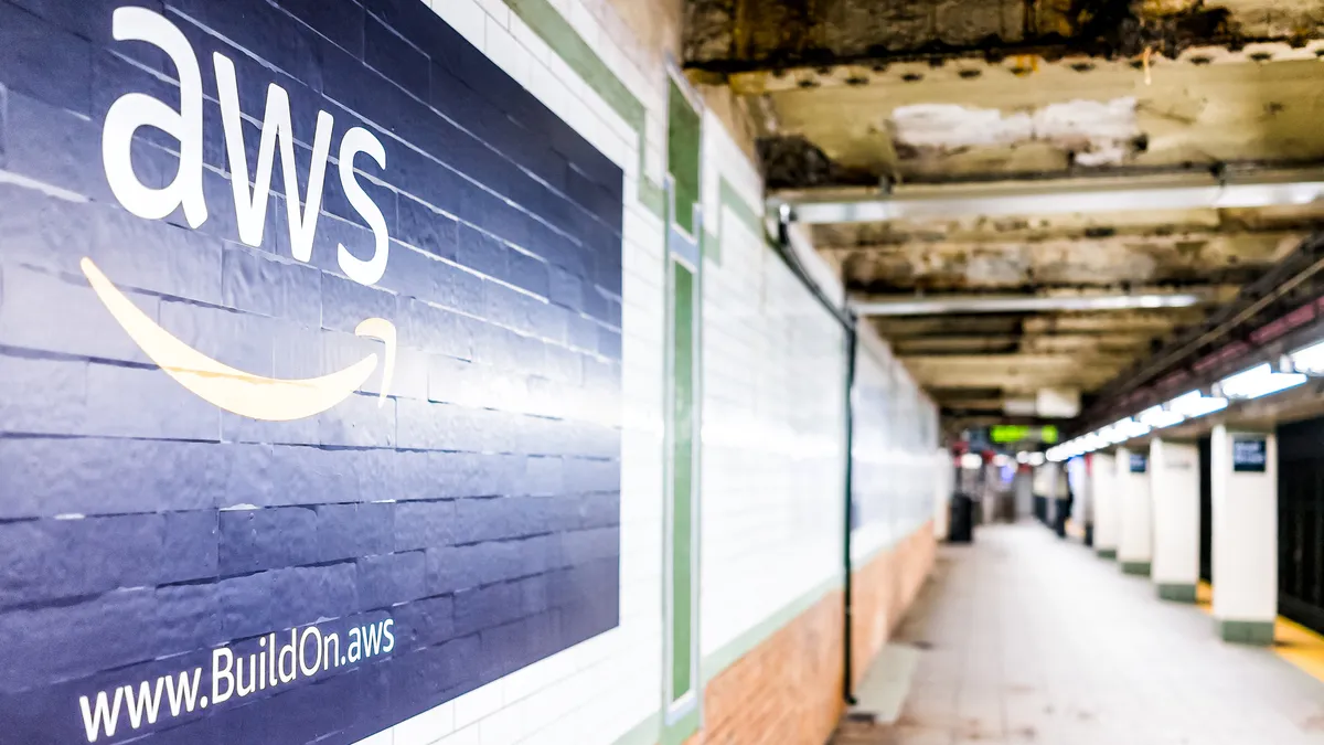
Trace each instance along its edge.
<instances>
[{"instance_id":1,"label":"complete logo of white aws letters plus smile arrow beneath","mask_svg":"<svg viewBox=\"0 0 1324 745\"><path fill-rule=\"evenodd\" d=\"M139 217L160 220L183 208L184 219L191 227L197 228L207 221L207 199L203 195L203 74L197 66L197 56L177 27L143 8L118 8L113 30L118 41L146 41L169 56L179 72L180 105L176 111L143 93L128 93L111 105L101 141L101 155L110 188L120 204ZM217 98L221 103L221 123L225 131L225 151L234 191L240 240L253 247L262 244L271 171L279 147L286 212L290 217L290 247L294 258L310 261L331 152L334 123L331 114L318 111L308 188L301 205L298 171L294 164L294 131L290 125L290 97L281 86L270 85L266 91L262 139L257 151L257 172L252 180L256 186L250 186L234 62L220 53L212 54L212 62L216 66ZM179 139L179 172L162 188L143 184L134 174L131 147L134 134L140 127L155 127ZM338 245L336 258L340 270L351 280L372 285L381 280L387 270L389 236L381 209L355 180L354 158L360 152L367 154L383 168L387 166L387 152L381 142L363 127L351 129L340 141L340 184L350 205L372 228L375 237L372 257L359 258L342 244ZM131 247L119 248L131 251ZM314 416L361 390L379 366L381 386L377 406L385 404L396 355L396 327L385 318L364 318L355 327L356 335L383 342L381 359L373 353L348 367L316 378L267 378L230 367L184 343L151 315L143 313L90 257L83 257L79 266L106 310L162 371L225 411L269 422Z\"/></svg>"}]
</instances>

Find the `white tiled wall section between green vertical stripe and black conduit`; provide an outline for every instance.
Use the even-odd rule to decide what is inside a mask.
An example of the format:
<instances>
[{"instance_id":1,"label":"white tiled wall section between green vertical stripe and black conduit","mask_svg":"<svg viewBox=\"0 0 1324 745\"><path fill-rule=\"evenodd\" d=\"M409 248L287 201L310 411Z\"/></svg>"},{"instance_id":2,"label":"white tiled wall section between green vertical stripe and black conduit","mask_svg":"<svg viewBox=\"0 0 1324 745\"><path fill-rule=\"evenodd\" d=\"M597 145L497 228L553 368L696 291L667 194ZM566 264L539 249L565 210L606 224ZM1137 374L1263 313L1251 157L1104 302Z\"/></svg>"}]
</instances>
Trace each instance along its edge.
<instances>
[{"instance_id":1,"label":"white tiled wall section between green vertical stripe and black conduit","mask_svg":"<svg viewBox=\"0 0 1324 745\"><path fill-rule=\"evenodd\" d=\"M720 179L761 213L763 184L707 115L704 212ZM704 655L841 574L845 333L763 235L720 215L704 264Z\"/></svg>"}]
</instances>

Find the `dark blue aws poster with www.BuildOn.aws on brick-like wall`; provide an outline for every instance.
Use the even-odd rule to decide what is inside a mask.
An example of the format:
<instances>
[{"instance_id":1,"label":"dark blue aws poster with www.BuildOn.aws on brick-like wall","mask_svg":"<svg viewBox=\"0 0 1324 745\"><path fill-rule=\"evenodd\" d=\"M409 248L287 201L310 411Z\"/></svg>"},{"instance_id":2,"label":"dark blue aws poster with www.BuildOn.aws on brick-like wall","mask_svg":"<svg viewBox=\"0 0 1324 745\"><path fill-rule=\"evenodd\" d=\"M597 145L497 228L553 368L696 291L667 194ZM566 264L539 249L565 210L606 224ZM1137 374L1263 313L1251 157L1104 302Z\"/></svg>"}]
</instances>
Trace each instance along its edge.
<instances>
[{"instance_id":1,"label":"dark blue aws poster with www.BuildOn.aws on brick-like wall","mask_svg":"<svg viewBox=\"0 0 1324 745\"><path fill-rule=\"evenodd\" d=\"M613 628L621 213L418 0L0 0L0 741L347 744Z\"/></svg>"}]
</instances>

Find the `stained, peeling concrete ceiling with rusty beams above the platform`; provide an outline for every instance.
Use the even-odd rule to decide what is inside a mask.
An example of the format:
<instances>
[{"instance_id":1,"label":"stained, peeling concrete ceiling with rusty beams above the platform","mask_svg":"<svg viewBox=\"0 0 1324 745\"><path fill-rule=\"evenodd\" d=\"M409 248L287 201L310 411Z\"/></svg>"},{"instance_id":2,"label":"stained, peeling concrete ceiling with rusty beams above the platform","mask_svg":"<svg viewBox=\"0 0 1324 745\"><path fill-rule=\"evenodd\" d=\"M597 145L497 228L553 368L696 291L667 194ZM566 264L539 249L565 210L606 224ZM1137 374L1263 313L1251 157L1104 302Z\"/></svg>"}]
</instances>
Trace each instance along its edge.
<instances>
[{"instance_id":1,"label":"stained, peeling concrete ceiling with rusty beams above the platform","mask_svg":"<svg viewBox=\"0 0 1324 745\"><path fill-rule=\"evenodd\" d=\"M690 0L771 196L1324 162L1324 0ZM1033 212L1033 211L1031 211ZM1324 205L813 225L857 300L1197 290L1186 309L876 318L949 418L1086 398L1292 253Z\"/></svg>"}]
</instances>

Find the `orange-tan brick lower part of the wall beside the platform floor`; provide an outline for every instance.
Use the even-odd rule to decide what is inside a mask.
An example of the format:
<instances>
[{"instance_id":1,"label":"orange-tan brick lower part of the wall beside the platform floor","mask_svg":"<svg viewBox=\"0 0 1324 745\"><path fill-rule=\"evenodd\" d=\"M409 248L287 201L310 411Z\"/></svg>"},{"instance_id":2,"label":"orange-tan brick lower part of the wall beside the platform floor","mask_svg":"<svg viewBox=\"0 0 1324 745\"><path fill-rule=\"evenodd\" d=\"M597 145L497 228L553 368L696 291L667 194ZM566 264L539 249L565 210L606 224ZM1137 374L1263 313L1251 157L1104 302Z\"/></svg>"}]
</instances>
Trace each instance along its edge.
<instances>
[{"instance_id":1,"label":"orange-tan brick lower part of the wall beside the platform floor","mask_svg":"<svg viewBox=\"0 0 1324 745\"><path fill-rule=\"evenodd\" d=\"M925 525L880 553L854 579L855 669L887 640L933 563ZM703 729L687 745L822 745L845 712L842 593L829 593L704 689Z\"/></svg>"}]
</instances>

